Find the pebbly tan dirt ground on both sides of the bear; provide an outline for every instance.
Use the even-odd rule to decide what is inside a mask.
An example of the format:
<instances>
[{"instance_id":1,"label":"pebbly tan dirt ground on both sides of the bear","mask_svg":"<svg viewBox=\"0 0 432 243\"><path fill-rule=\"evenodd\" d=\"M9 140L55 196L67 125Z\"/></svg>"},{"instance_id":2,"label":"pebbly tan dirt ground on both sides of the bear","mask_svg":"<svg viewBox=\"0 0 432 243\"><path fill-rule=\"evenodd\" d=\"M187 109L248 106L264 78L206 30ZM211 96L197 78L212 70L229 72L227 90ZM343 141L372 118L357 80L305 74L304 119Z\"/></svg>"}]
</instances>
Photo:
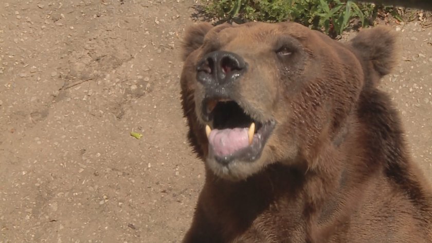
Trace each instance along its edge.
<instances>
[{"instance_id":1,"label":"pebbly tan dirt ground on both sides of the bear","mask_svg":"<svg viewBox=\"0 0 432 243\"><path fill-rule=\"evenodd\" d=\"M0 243L179 242L204 179L179 105L195 2L0 2ZM382 88L431 178L432 28L394 28Z\"/></svg>"}]
</instances>

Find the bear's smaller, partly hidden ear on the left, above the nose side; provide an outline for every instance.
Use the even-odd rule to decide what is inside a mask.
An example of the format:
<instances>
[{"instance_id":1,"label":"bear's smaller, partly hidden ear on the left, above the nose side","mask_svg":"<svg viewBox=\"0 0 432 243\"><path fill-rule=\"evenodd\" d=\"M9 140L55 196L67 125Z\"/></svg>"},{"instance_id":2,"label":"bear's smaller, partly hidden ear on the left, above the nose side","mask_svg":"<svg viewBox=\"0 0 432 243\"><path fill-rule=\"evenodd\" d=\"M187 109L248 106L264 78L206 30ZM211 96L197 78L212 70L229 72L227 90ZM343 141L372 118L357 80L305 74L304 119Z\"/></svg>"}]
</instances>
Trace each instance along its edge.
<instances>
[{"instance_id":1,"label":"bear's smaller, partly hidden ear on the left, above the nose side","mask_svg":"<svg viewBox=\"0 0 432 243\"><path fill-rule=\"evenodd\" d=\"M185 61L192 51L198 49L204 42L204 36L213 28L209 23L195 24L187 28L183 39L182 60Z\"/></svg>"}]
</instances>

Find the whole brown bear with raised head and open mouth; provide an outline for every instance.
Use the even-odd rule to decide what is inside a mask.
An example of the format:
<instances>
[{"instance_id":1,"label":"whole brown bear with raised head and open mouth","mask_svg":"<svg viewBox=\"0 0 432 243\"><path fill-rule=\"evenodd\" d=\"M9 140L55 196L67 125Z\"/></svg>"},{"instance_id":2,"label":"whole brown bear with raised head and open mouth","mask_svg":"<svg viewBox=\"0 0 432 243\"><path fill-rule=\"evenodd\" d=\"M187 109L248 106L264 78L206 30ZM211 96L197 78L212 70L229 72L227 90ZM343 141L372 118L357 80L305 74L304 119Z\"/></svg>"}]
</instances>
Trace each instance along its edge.
<instances>
[{"instance_id":1,"label":"whole brown bear with raised head and open mouth","mask_svg":"<svg viewBox=\"0 0 432 243\"><path fill-rule=\"evenodd\" d=\"M205 184L184 243L432 242L432 191L376 86L391 29L341 43L302 25L202 23L182 105Z\"/></svg>"}]
</instances>

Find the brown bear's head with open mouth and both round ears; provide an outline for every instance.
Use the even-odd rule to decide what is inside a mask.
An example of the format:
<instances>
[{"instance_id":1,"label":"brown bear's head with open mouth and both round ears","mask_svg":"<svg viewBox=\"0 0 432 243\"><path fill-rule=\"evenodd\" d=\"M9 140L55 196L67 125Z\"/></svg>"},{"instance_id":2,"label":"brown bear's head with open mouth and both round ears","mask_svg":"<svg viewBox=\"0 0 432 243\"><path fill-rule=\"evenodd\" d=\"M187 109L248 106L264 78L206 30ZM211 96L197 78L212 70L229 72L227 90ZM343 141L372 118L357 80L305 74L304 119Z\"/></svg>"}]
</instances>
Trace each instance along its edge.
<instances>
[{"instance_id":1,"label":"brown bear's head with open mouth and both round ears","mask_svg":"<svg viewBox=\"0 0 432 243\"><path fill-rule=\"evenodd\" d=\"M181 87L195 152L230 180L272 163L310 169L393 66L394 42L387 28L343 44L292 22L190 27Z\"/></svg>"}]
</instances>

